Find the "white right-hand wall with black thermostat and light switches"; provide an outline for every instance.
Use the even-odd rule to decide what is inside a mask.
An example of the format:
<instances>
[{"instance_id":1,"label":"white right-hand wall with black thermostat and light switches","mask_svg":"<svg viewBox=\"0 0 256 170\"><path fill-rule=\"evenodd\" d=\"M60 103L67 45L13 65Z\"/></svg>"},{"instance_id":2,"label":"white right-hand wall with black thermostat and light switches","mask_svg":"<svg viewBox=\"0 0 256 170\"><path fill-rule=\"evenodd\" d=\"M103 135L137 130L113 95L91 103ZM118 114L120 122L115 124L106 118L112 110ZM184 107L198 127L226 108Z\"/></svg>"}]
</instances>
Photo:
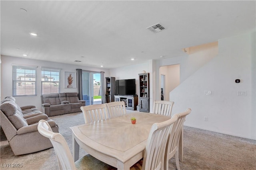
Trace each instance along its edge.
<instances>
[{"instance_id":1,"label":"white right-hand wall with black thermostat and light switches","mask_svg":"<svg viewBox=\"0 0 256 170\"><path fill-rule=\"evenodd\" d=\"M191 108L187 126L256 139L255 32L221 39L218 46L216 57L170 92L173 113Z\"/></svg>"}]
</instances>

